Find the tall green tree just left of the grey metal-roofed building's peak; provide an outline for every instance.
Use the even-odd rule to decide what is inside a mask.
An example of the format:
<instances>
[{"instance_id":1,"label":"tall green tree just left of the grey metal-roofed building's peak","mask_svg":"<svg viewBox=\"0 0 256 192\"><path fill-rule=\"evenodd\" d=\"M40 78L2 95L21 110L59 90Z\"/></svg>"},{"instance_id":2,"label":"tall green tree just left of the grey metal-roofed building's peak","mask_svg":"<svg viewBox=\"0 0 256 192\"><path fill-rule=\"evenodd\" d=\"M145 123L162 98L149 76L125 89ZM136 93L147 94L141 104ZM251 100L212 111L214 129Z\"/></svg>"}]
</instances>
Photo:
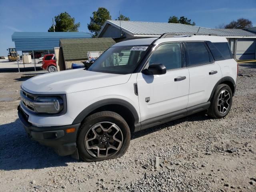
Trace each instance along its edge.
<instances>
[{"instance_id":1,"label":"tall green tree just left of the grey metal-roofed building's peak","mask_svg":"<svg viewBox=\"0 0 256 192\"><path fill-rule=\"evenodd\" d=\"M88 30L93 34L93 37L96 37L98 35L98 32L100 32L101 27L106 22L106 20L110 20L111 16L109 14L109 11L104 8L100 7L97 11L94 11L93 17L90 17L90 24L87 24Z\"/></svg>"}]
</instances>

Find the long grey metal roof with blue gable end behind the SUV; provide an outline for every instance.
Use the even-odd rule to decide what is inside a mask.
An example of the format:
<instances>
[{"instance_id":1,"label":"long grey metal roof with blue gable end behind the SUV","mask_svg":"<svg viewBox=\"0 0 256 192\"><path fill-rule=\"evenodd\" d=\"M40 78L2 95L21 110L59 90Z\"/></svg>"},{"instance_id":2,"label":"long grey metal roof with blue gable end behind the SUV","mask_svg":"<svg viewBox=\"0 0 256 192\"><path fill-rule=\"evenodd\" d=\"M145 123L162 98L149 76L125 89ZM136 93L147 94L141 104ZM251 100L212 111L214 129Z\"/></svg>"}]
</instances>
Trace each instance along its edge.
<instances>
[{"instance_id":1,"label":"long grey metal roof with blue gable end behind the SUV","mask_svg":"<svg viewBox=\"0 0 256 192\"><path fill-rule=\"evenodd\" d=\"M254 37L256 34L242 29L211 29L179 23L157 23L138 21L107 20L98 33L98 37L159 37L164 33L209 33L225 37Z\"/></svg>"}]
</instances>

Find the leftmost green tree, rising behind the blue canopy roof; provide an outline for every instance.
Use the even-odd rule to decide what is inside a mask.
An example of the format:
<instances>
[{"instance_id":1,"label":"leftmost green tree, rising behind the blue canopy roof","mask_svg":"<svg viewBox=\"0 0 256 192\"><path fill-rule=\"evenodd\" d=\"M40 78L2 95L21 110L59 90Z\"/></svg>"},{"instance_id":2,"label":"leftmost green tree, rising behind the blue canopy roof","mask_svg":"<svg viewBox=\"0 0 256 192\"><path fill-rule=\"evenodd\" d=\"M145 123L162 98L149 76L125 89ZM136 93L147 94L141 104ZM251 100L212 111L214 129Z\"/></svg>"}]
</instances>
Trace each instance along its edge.
<instances>
[{"instance_id":1,"label":"leftmost green tree, rising behind the blue canopy roof","mask_svg":"<svg viewBox=\"0 0 256 192\"><path fill-rule=\"evenodd\" d=\"M75 23L75 18L72 18L67 12L55 16L54 19L56 32L78 32L80 23ZM49 28L48 32L54 32L53 26Z\"/></svg>"}]
</instances>

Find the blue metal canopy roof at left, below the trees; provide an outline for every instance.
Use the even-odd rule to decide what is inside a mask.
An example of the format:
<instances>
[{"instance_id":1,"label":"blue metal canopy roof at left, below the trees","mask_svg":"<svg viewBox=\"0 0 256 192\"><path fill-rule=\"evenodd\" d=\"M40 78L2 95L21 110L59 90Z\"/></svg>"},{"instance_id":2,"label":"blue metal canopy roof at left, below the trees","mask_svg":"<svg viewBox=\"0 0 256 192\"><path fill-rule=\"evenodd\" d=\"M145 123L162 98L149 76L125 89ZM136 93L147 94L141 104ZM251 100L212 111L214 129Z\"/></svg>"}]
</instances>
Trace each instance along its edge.
<instances>
[{"instance_id":1,"label":"blue metal canopy roof at left, below the trees","mask_svg":"<svg viewBox=\"0 0 256 192\"><path fill-rule=\"evenodd\" d=\"M14 32L12 41L17 51L53 50L60 46L60 39L91 38L85 32Z\"/></svg>"}]
</instances>

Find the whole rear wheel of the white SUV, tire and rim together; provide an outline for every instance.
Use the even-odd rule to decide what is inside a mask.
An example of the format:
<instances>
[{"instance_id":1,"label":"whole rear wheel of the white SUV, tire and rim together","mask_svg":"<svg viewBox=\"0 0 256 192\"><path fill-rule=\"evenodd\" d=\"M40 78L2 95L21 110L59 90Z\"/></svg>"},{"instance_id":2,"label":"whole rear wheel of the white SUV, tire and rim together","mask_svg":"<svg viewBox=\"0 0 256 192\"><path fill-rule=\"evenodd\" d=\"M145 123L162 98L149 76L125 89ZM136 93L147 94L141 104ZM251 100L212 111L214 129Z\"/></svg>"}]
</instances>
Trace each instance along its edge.
<instances>
[{"instance_id":1,"label":"whole rear wheel of the white SUV, tire and rim together","mask_svg":"<svg viewBox=\"0 0 256 192\"><path fill-rule=\"evenodd\" d=\"M230 111L232 101L233 94L230 87L226 84L218 85L207 114L213 118L223 118Z\"/></svg>"}]
</instances>

